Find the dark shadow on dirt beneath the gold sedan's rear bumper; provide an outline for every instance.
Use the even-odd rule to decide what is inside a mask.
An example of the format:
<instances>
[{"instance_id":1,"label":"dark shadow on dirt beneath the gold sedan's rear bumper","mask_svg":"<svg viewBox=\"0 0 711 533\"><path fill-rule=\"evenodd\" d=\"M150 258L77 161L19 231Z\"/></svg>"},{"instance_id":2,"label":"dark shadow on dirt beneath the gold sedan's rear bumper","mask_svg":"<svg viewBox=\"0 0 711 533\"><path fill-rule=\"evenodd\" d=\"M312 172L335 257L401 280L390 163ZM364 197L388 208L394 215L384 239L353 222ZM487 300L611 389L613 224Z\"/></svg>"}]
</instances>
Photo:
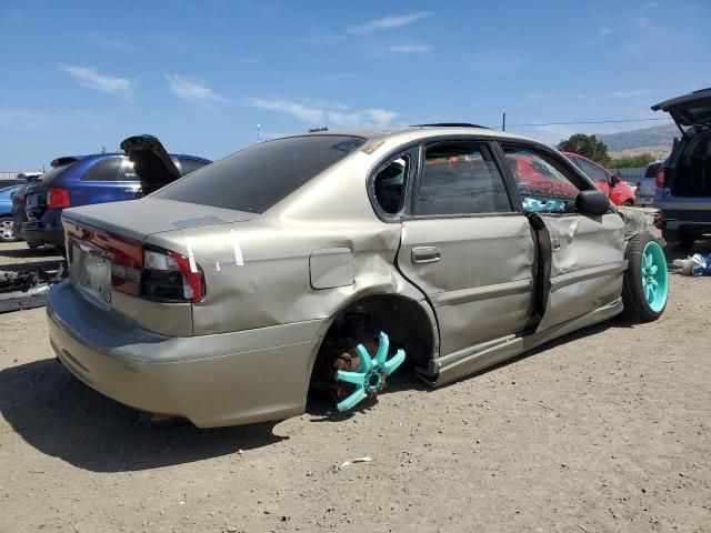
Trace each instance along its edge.
<instances>
[{"instance_id":1,"label":"dark shadow on dirt beneath the gold sedan's rear bumper","mask_svg":"<svg viewBox=\"0 0 711 533\"><path fill-rule=\"evenodd\" d=\"M12 356L12 354L8 354ZM0 413L42 453L94 472L171 466L277 443L276 423L200 430L151 424L84 385L54 359L0 371Z\"/></svg>"}]
</instances>

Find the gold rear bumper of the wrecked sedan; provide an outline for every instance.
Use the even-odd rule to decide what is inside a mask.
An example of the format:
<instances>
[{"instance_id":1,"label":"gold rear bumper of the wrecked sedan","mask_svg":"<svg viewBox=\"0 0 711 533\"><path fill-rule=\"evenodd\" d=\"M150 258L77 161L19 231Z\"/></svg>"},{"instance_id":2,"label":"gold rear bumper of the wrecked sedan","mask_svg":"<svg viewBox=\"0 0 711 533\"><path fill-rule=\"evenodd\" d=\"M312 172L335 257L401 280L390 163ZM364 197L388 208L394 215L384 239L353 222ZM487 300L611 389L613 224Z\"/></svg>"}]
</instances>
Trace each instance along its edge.
<instances>
[{"instance_id":1,"label":"gold rear bumper of the wrecked sedan","mask_svg":"<svg viewBox=\"0 0 711 533\"><path fill-rule=\"evenodd\" d=\"M51 345L81 381L121 403L199 428L303 412L323 321L173 338L88 303L69 281L50 291Z\"/></svg>"}]
</instances>

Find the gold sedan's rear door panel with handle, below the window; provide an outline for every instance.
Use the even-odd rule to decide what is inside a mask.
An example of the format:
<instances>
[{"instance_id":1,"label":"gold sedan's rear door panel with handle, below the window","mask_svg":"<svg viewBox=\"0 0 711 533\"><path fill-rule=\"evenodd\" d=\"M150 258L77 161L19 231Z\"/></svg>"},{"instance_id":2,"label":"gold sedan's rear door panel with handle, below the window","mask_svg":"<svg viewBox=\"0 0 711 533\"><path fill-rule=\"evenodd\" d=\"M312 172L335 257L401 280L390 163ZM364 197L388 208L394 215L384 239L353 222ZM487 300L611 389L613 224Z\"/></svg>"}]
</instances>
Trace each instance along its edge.
<instances>
[{"instance_id":1,"label":"gold sedan's rear door panel with handle, below the window","mask_svg":"<svg viewBox=\"0 0 711 533\"><path fill-rule=\"evenodd\" d=\"M398 266L432 303L442 355L525 329L535 260L525 217L419 219L402 227Z\"/></svg>"}]
</instances>

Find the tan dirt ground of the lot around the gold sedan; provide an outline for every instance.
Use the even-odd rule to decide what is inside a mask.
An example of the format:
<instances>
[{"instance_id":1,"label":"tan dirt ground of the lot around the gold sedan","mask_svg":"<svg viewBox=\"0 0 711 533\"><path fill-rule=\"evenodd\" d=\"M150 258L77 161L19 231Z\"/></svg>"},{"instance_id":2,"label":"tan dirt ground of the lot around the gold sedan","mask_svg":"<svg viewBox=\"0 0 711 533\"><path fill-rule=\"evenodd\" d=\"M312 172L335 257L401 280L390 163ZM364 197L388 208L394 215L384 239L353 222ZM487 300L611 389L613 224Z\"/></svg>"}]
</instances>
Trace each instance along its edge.
<instances>
[{"instance_id":1,"label":"tan dirt ground of the lot around the gold sedan","mask_svg":"<svg viewBox=\"0 0 711 533\"><path fill-rule=\"evenodd\" d=\"M708 251L708 249L705 250ZM51 252L0 245L0 264ZM711 279L657 322L567 336L350 416L150 426L0 315L0 531L711 531ZM340 467L369 455L369 463Z\"/></svg>"}]
</instances>

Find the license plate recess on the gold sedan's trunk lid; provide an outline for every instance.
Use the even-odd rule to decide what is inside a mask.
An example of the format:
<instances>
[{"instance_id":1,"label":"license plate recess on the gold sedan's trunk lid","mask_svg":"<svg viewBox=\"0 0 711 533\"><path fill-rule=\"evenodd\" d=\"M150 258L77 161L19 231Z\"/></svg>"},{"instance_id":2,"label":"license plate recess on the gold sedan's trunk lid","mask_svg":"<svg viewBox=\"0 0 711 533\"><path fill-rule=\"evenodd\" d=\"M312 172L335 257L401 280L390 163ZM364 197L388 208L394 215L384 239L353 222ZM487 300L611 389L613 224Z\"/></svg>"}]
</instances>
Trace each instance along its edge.
<instances>
[{"instance_id":1,"label":"license plate recess on the gold sedan's trunk lid","mask_svg":"<svg viewBox=\"0 0 711 533\"><path fill-rule=\"evenodd\" d=\"M70 278L86 296L102 306L111 305L111 261L107 257L72 244Z\"/></svg>"}]
</instances>

